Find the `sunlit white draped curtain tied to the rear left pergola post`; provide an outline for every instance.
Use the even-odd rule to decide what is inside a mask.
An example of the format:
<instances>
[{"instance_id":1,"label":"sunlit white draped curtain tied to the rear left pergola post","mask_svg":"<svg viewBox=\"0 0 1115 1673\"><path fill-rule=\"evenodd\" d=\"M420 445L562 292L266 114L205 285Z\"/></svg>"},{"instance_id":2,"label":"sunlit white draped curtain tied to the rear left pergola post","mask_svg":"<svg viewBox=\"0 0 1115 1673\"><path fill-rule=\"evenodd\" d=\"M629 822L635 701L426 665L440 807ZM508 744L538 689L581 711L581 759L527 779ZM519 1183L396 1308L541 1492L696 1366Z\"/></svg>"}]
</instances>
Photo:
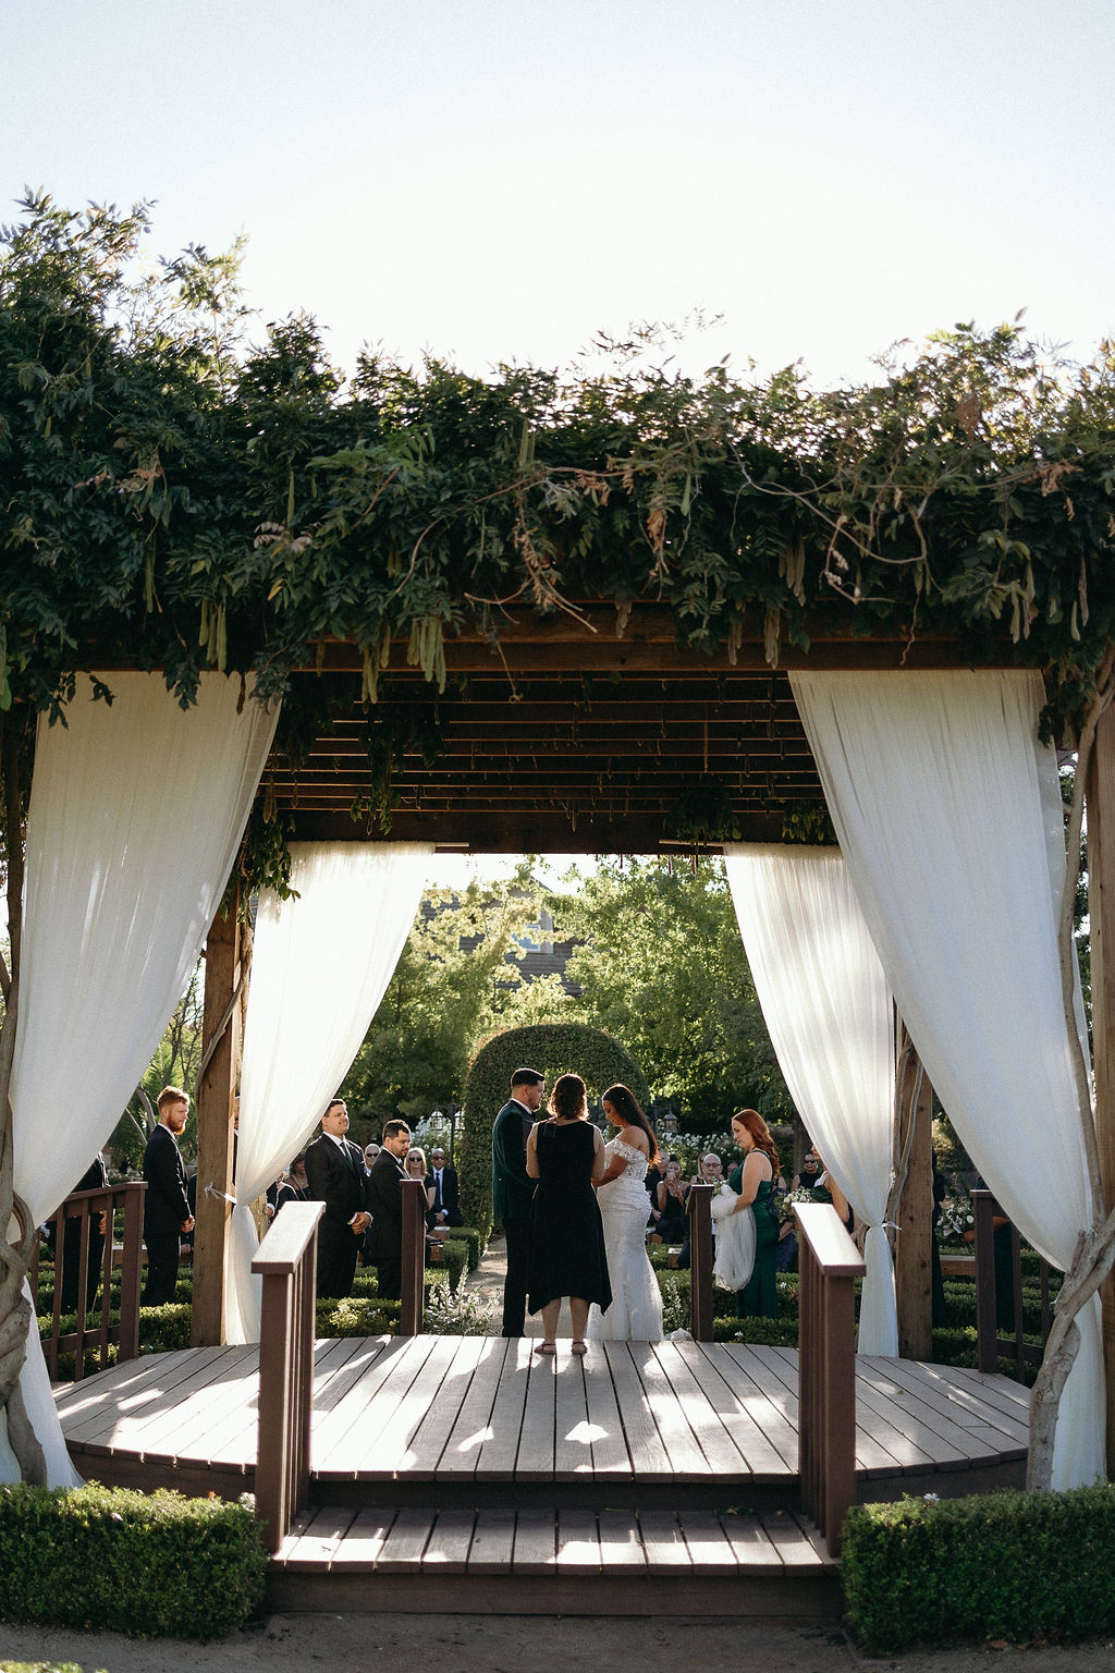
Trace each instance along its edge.
<instances>
[{"instance_id":1,"label":"sunlit white draped curtain tied to the rear left pergola post","mask_svg":"<svg viewBox=\"0 0 1115 1673\"><path fill-rule=\"evenodd\" d=\"M256 917L226 1253L229 1342L259 1342L251 1203L348 1074L415 922L433 843L293 843L291 855L298 898L264 890Z\"/></svg>"}]
</instances>

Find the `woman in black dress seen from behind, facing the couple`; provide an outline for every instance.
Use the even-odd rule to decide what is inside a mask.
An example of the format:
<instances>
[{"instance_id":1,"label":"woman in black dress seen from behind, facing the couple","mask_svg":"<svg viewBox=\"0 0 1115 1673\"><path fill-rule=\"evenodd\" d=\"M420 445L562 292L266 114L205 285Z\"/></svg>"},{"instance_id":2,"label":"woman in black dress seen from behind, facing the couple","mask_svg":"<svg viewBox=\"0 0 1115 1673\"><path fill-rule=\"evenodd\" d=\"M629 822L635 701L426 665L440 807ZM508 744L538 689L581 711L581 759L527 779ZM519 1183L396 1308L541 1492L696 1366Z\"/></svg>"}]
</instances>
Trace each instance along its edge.
<instances>
[{"instance_id":1,"label":"woman in black dress seen from behind, facing the couple","mask_svg":"<svg viewBox=\"0 0 1115 1673\"><path fill-rule=\"evenodd\" d=\"M538 1181L527 1310L542 1308L543 1338L537 1352L557 1353L557 1322L562 1297L568 1295L573 1353L583 1353L590 1303L602 1313L612 1303L603 1226L592 1188L607 1166L603 1139L588 1121L578 1074L558 1076L548 1109L550 1119L537 1121L527 1139L527 1173Z\"/></svg>"}]
</instances>

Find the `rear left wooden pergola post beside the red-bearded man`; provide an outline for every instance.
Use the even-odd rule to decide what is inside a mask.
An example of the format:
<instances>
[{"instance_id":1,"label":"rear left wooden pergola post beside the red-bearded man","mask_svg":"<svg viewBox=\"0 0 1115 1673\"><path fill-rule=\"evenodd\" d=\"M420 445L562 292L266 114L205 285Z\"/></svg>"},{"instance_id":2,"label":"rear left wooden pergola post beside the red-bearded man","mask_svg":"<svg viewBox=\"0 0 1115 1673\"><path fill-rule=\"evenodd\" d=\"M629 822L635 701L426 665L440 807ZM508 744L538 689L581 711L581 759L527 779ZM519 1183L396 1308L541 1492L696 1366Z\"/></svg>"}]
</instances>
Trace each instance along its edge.
<instances>
[{"instance_id":1,"label":"rear left wooden pergola post beside the red-bearded man","mask_svg":"<svg viewBox=\"0 0 1115 1673\"><path fill-rule=\"evenodd\" d=\"M224 1246L232 1213L232 1205L226 1198L232 1196L232 1094L239 1067L237 1014L232 1005L241 962L237 908L239 888L234 888L227 918L217 913L206 937L202 1052L209 1051L212 1041L217 1044L197 1087L197 1213L191 1325L191 1345L196 1348L219 1347L224 1342Z\"/></svg>"}]
</instances>

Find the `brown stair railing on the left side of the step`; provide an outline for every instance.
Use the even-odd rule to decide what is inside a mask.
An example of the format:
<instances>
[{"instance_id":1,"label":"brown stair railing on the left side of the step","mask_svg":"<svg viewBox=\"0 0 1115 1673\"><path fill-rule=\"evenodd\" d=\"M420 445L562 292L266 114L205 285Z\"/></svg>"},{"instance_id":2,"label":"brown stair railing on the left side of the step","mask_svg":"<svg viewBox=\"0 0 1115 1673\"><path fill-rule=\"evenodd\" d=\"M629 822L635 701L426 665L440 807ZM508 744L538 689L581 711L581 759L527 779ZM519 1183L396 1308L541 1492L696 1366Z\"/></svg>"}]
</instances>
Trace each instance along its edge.
<instances>
[{"instance_id":1,"label":"brown stair railing on the left side of the step","mask_svg":"<svg viewBox=\"0 0 1115 1673\"><path fill-rule=\"evenodd\" d=\"M262 1275L256 1516L277 1551L309 1501L318 1221L324 1203L286 1203L252 1260Z\"/></svg>"}]
</instances>

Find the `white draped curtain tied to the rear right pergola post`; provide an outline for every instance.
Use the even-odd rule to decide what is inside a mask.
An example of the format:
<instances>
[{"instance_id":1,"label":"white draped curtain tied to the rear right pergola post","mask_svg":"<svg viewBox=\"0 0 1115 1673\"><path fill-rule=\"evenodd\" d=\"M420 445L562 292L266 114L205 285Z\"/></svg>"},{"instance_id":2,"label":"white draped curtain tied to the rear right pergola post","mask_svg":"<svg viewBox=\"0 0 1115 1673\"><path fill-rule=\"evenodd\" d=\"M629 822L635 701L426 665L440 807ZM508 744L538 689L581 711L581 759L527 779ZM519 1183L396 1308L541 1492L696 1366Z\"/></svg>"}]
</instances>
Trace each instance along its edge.
<instances>
[{"instance_id":1,"label":"white draped curtain tied to the rear right pergola post","mask_svg":"<svg viewBox=\"0 0 1115 1673\"><path fill-rule=\"evenodd\" d=\"M894 1005L838 848L726 843L727 880L771 1042L824 1166L868 1225L859 1352L898 1353L886 1235Z\"/></svg>"}]
</instances>

